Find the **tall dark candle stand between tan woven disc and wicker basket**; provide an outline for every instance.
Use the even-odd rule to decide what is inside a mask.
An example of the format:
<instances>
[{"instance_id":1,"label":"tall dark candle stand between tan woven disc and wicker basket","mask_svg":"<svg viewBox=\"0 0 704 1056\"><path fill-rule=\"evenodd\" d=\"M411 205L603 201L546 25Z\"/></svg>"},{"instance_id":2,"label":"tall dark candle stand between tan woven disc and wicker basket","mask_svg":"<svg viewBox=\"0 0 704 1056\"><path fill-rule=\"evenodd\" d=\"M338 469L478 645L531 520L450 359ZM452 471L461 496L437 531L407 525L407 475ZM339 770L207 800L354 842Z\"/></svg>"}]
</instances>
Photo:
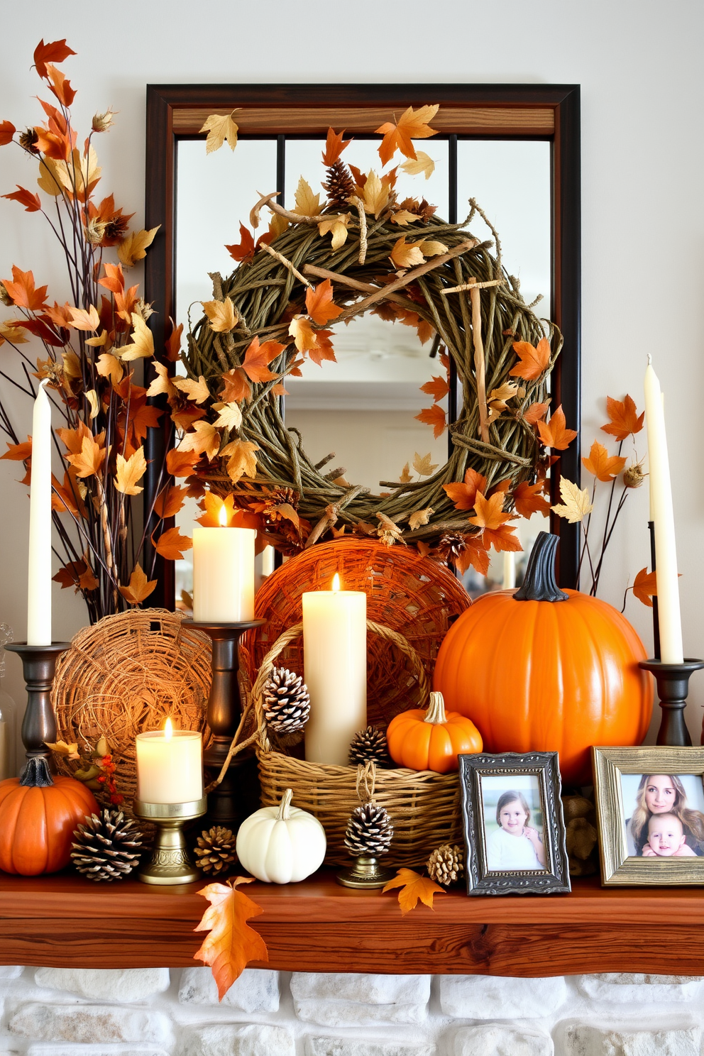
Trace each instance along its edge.
<instances>
[{"instance_id":1,"label":"tall dark candle stand between tan woven disc and wicker basket","mask_svg":"<svg viewBox=\"0 0 704 1056\"><path fill-rule=\"evenodd\" d=\"M190 621L189 621L190 623ZM242 698L237 671L237 646L241 636L266 620L240 623L190 623L212 640L212 685L208 697L208 725L212 741L203 758L206 785L215 780L227 759L232 738L242 718ZM234 756L227 773L208 795L206 825L222 825L236 832L242 822L260 806L260 784L254 749Z\"/></svg>"}]
</instances>

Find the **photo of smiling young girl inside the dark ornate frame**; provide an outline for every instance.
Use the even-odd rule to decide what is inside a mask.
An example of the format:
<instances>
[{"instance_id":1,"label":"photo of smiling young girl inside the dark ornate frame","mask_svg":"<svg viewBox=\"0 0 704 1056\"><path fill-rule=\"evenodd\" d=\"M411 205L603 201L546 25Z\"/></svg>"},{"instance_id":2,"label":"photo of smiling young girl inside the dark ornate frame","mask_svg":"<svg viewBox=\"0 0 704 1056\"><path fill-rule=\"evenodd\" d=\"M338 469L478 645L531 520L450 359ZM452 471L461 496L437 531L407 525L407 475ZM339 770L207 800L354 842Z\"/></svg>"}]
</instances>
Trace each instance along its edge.
<instances>
[{"instance_id":1,"label":"photo of smiling young girl inside the dark ornate frame","mask_svg":"<svg viewBox=\"0 0 704 1056\"><path fill-rule=\"evenodd\" d=\"M512 782L507 788L508 781ZM489 872L546 869L537 777L521 774L481 779Z\"/></svg>"}]
</instances>

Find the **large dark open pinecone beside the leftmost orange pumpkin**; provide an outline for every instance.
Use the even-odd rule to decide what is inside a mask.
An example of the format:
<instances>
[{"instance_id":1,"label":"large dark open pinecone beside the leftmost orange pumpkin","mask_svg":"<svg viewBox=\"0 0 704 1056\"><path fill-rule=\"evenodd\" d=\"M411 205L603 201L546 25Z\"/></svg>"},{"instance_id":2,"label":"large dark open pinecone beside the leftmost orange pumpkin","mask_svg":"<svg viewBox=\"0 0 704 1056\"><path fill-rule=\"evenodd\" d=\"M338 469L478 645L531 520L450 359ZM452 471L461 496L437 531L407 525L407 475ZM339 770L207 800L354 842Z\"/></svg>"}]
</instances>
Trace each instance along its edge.
<instances>
[{"instance_id":1,"label":"large dark open pinecone beside the leftmost orange pumpkin","mask_svg":"<svg viewBox=\"0 0 704 1056\"><path fill-rule=\"evenodd\" d=\"M91 814L74 832L71 857L89 880L119 880L139 863L141 832L121 810Z\"/></svg>"}]
</instances>

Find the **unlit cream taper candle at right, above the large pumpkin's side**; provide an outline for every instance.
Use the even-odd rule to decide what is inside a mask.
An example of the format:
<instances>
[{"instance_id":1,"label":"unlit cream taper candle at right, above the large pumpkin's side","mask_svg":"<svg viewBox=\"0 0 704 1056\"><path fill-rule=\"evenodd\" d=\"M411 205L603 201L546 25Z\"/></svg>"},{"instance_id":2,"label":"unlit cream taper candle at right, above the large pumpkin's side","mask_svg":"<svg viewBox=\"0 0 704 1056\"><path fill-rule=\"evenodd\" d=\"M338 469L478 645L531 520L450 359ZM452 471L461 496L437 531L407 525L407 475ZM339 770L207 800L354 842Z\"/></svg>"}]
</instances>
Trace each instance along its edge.
<instances>
[{"instance_id":1,"label":"unlit cream taper candle at right, above the large pumpkin's side","mask_svg":"<svg viewBox=\"0 0 704 1056\"><path fill-rule=\"evenodd\" d=\"M660 654L665 663L682 663L682 621L674 544L670 467L660 381L650 365L645 372L645 420L648 430L651 517L655 524L655 578L660 620Z\"/></svg>"}]
</instances>

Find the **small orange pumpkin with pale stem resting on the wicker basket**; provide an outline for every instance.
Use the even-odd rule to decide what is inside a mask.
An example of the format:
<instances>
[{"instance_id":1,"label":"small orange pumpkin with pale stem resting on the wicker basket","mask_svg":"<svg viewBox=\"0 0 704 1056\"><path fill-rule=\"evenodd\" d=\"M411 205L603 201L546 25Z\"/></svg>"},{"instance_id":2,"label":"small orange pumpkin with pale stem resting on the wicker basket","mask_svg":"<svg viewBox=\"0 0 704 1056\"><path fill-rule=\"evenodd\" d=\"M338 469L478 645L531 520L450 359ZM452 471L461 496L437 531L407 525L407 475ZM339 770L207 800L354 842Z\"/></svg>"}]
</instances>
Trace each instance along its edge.
<instances>
[{"instance_id":1,"label":"small orange pumpkin with pale stem resting on the wicker basket","mask_svg":"<svg viewBox=\"0 0 704 1056\"><path fill-rule=\"evenodd\" d=\"M412 708L401 712L386 730L388 754L410 770L435 770L446 774L458 770L460 752L480 752L481 734L471 719L448 712L441 693L431 693L427 711Z\"/></svg>"}]
</instances>

